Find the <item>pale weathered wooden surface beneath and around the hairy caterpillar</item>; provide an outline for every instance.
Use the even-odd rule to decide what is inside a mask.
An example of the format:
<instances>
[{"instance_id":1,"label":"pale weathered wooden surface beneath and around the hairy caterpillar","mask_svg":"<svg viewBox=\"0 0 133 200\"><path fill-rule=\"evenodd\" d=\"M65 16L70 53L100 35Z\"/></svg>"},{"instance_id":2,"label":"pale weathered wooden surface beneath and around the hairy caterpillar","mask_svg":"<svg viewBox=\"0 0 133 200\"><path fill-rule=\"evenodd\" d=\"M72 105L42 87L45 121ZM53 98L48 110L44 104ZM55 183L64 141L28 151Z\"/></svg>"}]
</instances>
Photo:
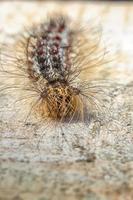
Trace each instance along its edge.
<instances>
[{"instance_id":1,"label":"pale weathered wooden surface beneath and around the hairy caterpillar","mask_svg":"<svg viewBox=\"0 0 133 200\"><path fill-rule=\"evenodd\" d=\"M59 10L97 19L115 52L111 118L23 125L0 96L0 200L133 199L133 3L0 2L0 41ZM39 144L39 148L38 148Z\"/></svg>"}]
</instances>

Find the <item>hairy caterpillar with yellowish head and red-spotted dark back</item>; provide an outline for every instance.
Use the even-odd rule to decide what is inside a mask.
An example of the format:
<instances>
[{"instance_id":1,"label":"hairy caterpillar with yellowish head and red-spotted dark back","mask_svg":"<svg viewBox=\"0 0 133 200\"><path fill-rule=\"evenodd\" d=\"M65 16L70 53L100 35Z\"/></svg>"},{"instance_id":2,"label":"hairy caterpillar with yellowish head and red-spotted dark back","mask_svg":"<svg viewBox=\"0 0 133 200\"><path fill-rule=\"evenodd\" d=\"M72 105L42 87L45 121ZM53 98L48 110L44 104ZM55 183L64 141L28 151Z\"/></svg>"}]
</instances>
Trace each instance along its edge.
<instances>
[{"instance_id":1,"label":"hairy caterpillar with yellowish head and red-spotted dark back","mask_svg":"<svg viewBox=\"0 0 133 200\"><path fill-rule=\"evenodd\" d=\"M25 122L32 114L41 121L88 122L94 112L104 112L107 84L99 72L107 52L99 27L79 27L53 16L1 53L0 91L20 103Z\"/></svg>"}]
</instances>

